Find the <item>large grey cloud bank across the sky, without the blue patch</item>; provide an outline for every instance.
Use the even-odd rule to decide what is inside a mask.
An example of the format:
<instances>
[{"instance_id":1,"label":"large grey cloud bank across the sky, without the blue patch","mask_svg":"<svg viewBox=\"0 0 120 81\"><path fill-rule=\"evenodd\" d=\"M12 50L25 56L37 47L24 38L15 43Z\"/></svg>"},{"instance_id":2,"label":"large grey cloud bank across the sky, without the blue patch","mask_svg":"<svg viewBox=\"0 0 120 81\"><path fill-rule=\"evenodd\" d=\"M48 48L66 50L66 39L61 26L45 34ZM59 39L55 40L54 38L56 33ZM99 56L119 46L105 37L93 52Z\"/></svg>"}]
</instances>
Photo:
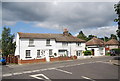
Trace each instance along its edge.
<instances>
[{"instance_id":1,"label":"large grey cloud bank across the sky, without the blue patch","mask_svg":"<svg viewBox=\"0 0 120 81\"><path fill-rule=\"evenodd\" d=\"M68 28L72 32L110 26L116 14L113 2L3 2L3 25L30 22L37 27ZM99 29L100 30L100 29ZM97 34L97 33L96 33Z\"/></svg>"}]
</instances>

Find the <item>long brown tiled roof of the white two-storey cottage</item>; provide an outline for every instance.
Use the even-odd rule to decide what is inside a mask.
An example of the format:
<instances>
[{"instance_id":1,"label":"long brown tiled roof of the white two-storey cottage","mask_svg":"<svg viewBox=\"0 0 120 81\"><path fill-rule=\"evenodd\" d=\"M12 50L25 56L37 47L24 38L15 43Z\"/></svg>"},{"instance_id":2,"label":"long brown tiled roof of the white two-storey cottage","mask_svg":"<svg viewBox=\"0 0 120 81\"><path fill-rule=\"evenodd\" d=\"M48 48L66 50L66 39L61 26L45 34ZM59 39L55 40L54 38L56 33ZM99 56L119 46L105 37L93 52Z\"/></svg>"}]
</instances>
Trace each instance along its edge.
<instances>
[{"instance_id":1,"label":"long brown tiled roof of the white two-storey cottage","mask_svg":"<svg viewBox=\"0 0 120 81\"><path fill-rule=\"evenodd\" d=\"M22 33L18 32L20 38L40 38L40 39L55 39L57 42L85 42L74 36L66 36L63 34L43 34L43 33Z\"/></svg>"}]
</instances>

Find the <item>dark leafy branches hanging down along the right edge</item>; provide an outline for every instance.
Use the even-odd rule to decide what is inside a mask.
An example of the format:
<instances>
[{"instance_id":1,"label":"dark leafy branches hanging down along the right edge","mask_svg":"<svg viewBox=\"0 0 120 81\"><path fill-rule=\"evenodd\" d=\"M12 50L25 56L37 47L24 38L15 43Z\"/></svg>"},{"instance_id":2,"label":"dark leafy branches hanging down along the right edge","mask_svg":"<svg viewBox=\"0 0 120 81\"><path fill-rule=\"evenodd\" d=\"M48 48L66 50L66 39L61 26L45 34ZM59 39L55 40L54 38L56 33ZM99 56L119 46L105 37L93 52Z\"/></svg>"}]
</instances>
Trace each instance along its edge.
<instances>
[{"instance_id":1,"label":"dark leafy branches hanging down along the right edge","mask_svg":"<svg viewBox=\"0 0 120 81\"><path fill-rule=\"evenodd\" d=\"M114 21L118 22L118 30L116 32L117 32L119 47L120 47L120 2L114 5L114 9L116 14L118 15L118 18L116 18Z\"/></svg>"}]
</instances>

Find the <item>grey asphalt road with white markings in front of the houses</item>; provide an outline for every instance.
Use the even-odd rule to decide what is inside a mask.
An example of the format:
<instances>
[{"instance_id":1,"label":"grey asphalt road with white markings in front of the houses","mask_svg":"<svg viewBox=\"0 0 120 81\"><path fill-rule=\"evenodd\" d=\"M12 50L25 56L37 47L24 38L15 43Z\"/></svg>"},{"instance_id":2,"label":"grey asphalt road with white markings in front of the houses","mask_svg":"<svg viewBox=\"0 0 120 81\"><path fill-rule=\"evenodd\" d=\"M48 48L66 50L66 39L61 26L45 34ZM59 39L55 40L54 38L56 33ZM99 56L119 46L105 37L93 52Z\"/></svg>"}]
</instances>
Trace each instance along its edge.
<instances>
[{"instance_id":1,"label":"grey asphalt road with white markings in front of the houses","mask_svg":"<svg viewBox=\"0 0 120 81\"><path fill-rule=\"evenodd\" d=\"M3 68L3 81L6 80L79 80L79 81L118 81L118 66L109 62L113 57L93 57L87 59L7 65Z\"/></svg>"}]
</instances>

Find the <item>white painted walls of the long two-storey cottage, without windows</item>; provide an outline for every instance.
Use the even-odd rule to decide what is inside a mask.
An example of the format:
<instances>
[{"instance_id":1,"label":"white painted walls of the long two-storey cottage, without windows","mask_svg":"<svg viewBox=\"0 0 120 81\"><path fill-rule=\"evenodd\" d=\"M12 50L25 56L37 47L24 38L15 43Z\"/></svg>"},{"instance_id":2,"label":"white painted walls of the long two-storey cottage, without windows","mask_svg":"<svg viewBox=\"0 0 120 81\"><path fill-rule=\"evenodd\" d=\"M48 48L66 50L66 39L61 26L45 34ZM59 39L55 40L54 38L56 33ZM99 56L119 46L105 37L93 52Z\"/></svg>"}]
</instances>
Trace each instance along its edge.
<instances>
[{"instance_id":1,"label":"white painted walls of the long two-storey cottage, without windows","mask_svg":"<svg viewBox=\"0 0 120 81\"><path fill-rule=\"evenodd\" d=\"M19 39L19 35L17 34L15 55L20 55L20 59L22 60L28 60L28 59L37 58L37 50L52 49L53 55L54 53L57 54L56 57L59 56L58 50L63 50L63 49L67 50L68 56L76 55L77 50L83 50L83 51L85 50L85 43L81 43L81 46L77 46L76 43L68 43L68 46L62 46L62 42L56 42L55 39L50 39L51 46L46 46L46 39L34 39L35 47L29 47L28 45L29 45L29 39L27 38ZM26 58L26 50L31 50L32 58ZM44 55L44 57L45 56L46 55Z\"/></svg>"}]
</instances>

